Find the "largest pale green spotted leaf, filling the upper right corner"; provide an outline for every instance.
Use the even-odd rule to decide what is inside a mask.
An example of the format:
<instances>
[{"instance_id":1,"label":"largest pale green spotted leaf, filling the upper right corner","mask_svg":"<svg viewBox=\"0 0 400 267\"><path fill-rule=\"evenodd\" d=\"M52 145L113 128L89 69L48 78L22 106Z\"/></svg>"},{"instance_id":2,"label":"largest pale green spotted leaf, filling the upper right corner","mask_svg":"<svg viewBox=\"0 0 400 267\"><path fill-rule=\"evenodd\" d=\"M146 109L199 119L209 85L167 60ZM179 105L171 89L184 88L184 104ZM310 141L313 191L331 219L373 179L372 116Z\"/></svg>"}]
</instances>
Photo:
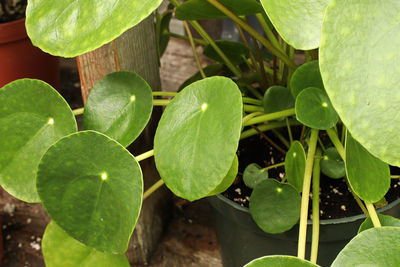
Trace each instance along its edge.
<instances>
[{"instance_id":1,"label":"largest pale green spotted leaf, filling the upper right corner","mask_svg":"<svg viewBox=\"0 0 400 267\"><path fill-rule=\"evenodd\" d=\"M399 10L397 0L332 1L320 50L322 78L340 118L369 152L397 166Z\"/></svg>"}]
</instances>

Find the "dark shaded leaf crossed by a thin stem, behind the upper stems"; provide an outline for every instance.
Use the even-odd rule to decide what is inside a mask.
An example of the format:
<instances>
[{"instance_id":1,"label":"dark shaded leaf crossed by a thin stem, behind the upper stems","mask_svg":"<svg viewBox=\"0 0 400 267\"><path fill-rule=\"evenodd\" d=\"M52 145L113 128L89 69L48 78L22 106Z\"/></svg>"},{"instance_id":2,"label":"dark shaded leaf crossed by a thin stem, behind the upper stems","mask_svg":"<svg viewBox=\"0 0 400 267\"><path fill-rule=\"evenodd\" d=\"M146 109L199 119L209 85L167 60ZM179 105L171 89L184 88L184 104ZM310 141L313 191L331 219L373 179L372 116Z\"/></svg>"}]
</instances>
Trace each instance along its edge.
<instances>
[{"instance_id":1,"label":"dark shaded leaf crossed by a thin stem, behind the upper stems","mask_svg":"<svg viewBox=\"0 0 400 267\"><path fill-rule=\"evenodd\" d=\"M249 48L243 43L229 40L217 40L215 44L224 51L227 58L235 65L243 63L249 56ZM215 61L225 63L211 45L207 45L204 48L203 54Z\"/></svg>"}]
</instances>

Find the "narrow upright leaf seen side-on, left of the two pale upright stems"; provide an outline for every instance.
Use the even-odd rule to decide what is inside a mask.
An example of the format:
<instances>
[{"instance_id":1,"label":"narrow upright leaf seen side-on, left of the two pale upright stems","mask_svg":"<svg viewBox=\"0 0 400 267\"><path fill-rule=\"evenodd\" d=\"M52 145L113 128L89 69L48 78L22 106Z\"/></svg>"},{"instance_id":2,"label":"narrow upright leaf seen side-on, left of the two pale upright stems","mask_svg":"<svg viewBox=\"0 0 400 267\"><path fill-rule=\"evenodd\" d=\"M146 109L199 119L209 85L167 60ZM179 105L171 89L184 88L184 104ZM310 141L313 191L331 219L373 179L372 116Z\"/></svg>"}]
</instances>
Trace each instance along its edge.
<instances>
[{"instance_id":1,"label":"narrow upright leaf seen side-on, left of the two pale upright stems","mask_svg":"<svg viewBox=\"0 0 400 267\"><path fill-rule=\"evenodd\" d=\"M306 152L299 141L294 141L285 156L285 173L289 184L298 192L303 191Z\"/></svg>"}]
</instances>

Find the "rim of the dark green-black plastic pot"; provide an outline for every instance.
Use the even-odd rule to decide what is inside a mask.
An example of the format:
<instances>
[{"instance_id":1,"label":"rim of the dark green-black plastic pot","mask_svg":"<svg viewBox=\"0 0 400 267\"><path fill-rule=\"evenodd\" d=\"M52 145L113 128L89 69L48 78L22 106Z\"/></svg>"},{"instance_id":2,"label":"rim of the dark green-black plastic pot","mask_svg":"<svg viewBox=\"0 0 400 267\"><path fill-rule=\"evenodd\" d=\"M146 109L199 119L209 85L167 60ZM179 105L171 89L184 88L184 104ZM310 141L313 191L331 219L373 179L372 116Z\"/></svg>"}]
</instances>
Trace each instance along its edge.
<instances>
[{"instance_id":1,"label":"rim of the dark green-black plastic pot","mask_svg":"<svg viewBox=\"0 0 400 267\"><path fill-rule=\"evenodd\" d=\"M229 206L231 206L234 209L237 209L239 211L242 212L246 212L248 214L250 214L250 210L246 207L242 207L239 204L237 204L236 202L228 199L227 197L223 196L222 194L218 194L215 195L215 197L217 197L219 200L223 201L224 203L228 204ZM396 199L395 201L389 203L388 205L386 205L383 208L377 209L378 213L384 212L388 209L391 209L392 207L398 205L400 203L400 198ZM358 220L364 220L365 218L367 218L365 216L365 214L358 214L358 215L353 215L350 217L345 217L345 218L340 218L340 219L327 219L327 220L320 220L319 223L320 225L327 225L327 224L344 224L344 223L349 223L349 222L355 222ZM312 220L307 220L307 224L308 225L312 225Z\"/></svg>"}]
</instances>

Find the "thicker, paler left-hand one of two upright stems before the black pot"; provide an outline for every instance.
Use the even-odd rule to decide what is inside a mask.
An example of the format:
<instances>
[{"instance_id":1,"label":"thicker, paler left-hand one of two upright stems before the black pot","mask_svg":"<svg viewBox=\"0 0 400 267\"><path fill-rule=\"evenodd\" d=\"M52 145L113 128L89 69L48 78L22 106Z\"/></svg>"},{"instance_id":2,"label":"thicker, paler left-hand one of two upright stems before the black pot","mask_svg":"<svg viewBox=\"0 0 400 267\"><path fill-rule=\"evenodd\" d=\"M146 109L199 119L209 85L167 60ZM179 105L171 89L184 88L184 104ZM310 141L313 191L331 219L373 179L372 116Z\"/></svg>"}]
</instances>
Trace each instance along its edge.
<instances>
[{"instance_id":1,"label":"thicker, paler left-hand one of two upright stems before the black pot","mask_svg":"<svg viewBox=\"0 0 400 267\"><path fill-rule=\"evenodd\" d=\"M311 129L310 143L307 152L306 169L304 171L303 190L301 195L299 241L297 257L304 260L306 255L307 215L310 198L311 175L313 171L315 150L317 148L318 130Z\"/></svg>"}]
</instances>

